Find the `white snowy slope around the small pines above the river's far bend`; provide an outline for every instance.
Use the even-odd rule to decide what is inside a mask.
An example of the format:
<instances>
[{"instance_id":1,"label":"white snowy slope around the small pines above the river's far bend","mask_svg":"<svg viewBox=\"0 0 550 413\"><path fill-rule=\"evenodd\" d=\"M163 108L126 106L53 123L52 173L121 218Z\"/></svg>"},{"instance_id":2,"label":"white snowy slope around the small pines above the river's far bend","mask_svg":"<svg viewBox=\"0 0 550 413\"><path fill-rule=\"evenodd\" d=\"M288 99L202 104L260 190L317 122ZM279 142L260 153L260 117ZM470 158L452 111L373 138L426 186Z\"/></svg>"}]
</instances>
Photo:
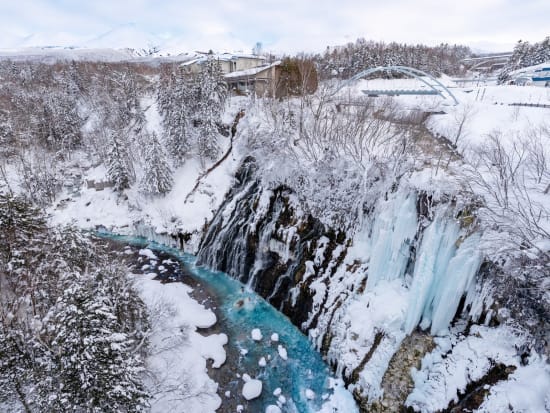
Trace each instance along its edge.
<instances>
[{"instance_id":1,"label":"white snowy slope around the small pines above the river's far bend","mask_svg":"<svg viewBox=\"0 0 550 413\"><path fill-rule=\"evenodd\" d=\"M147 129L162 134L157 104L151 99L143 100L147 108L145 116ZM238 110L232 108L231 110ZM222 150L229 144L222 141ZM75 162L86 164L84 159ZM239 166L238 156L229 156L218 168L201 180L200 188L188 197L197 179L204 172L200 162L193 158L174 171L174 186L164 197L144 196L134 185L125 191L124 196L115 193L112 188L96 191L86 186L87 180L105 182L107 171L103 165L83 168L83 186L78 195L63 194L60 199L68 198L63 205L54 205L52 213L53 224L74 223L84 229L95 229L103 226L113 232L136 234L140 229L146 233L187 232L193 234L190 241L191 249L197 247L200 233L206 222L209 222L214 212L222 203L225 193L233 183L235 170ZM208 167L209 165L206 165ZM137 173L141 173L137 171ZM137 177L139 181L139 176ZM147 229L146 229L147 228Z\"/></svg>"}]
</instances>

